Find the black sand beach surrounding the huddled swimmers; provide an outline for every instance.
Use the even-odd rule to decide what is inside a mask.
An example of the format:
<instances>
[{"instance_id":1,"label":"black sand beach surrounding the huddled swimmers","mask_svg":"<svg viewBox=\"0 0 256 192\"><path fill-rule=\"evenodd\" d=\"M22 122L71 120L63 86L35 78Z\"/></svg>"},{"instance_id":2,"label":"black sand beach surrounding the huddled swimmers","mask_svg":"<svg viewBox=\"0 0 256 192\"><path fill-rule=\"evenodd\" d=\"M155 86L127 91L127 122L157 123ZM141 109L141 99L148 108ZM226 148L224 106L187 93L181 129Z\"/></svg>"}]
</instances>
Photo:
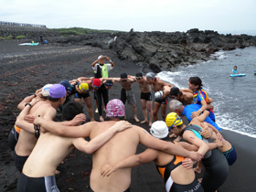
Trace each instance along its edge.
<instances>
[{"instance_id":1,"label":"black sand beach surrounding the huddled swimmers","mask_svg":"<svg viewBox=\"0 0 256 192\"><path fill-rule=\"evenodd\" d=\"M47 83L60 80L73 80L78 77L91 77L91 63L99 55L108 55L115 63L110 76L119 77L122 72L134 75L138 71L147 72L129 60L121 60L111 50L81 46L18 46L17 41L0 41L0 191L16 191L18 172L13 162L12 152L7 143L7 136L19 113L16 105L24 97L32 94ZM187 77L188 78L188 77ZM121 86L117 83L110 91L110 99L120 98ZM138 118L143 119L140 105L140 91L133 84ZM92 101L93 107L95 102ZM126 105L127 120L133 120L132 108ZM99 121L98 113L94 113ZM88 113L87 113L88 115ZM89 115L88 115L89 116ZM160 115L159 115L160 117ZM146 124L142 125L148 130ZM221 192L253 192L255 189L256 139L239 133L223 130L223 135L237 151L237 162L229 167L229 177L219 188ZM137 153L144 151L139 145ZM56 176L60 191L88 191L91 172L91 155L74 150L59 165L60 174ZM157 174L154 163L133 168L131 192L165 191L164 182Z\"/></svg>"}]
</instances>

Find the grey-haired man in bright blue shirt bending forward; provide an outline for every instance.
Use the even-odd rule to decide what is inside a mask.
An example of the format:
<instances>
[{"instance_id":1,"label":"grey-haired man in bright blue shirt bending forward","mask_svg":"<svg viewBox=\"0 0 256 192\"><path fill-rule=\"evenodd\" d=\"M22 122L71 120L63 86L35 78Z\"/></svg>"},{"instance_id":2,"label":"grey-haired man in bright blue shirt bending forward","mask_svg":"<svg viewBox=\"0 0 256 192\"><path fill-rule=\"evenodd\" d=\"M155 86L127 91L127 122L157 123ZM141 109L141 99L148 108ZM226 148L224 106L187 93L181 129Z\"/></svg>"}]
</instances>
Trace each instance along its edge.
<instances>
[{"instance_id":1,"label":"grey-haired man in bright blue shirt bending forward","mask_svg":"<svg viewBox=\"0 0 256 192\"><path fill-rule=\"evenodd\" d=\"M169 102L169 109L171 112L176 112L178 115L184 115L187 117L187 121L191 121L191 113L197 112L201 108L201 105L198 104L189 104L184 106L182 102L177 100L172 100ZM220 128L217 123L213 122L209 117L205 119L205 122L213 125L218 131L220 131Z\"/></svg>"}]
</instances>

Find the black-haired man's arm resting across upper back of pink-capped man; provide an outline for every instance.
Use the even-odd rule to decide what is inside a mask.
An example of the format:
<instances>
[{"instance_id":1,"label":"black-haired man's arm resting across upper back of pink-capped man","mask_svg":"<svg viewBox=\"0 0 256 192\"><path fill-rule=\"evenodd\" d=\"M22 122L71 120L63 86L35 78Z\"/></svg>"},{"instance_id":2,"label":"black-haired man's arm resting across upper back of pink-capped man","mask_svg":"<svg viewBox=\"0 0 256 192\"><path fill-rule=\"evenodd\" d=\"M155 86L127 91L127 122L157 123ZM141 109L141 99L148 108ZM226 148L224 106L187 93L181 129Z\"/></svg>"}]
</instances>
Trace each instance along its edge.
<instances>
[{"instance_id":1,"label":"black-haired man's arm resting across upper back of pink-capped man","mask_svg":"<svg viewBox=\"0 0 256 192\"><path fill-rule=\"evenodd\" d=\"M90 142L83 138L78 138L73 141L74 146L86 154L92 154L98 150L103 144L106 144L115 133L122 132L125 129L131 128L132 124L126 121L120 121L112 125L107 131L99 134L91 139Z\"/></svg>"}]
</instances>

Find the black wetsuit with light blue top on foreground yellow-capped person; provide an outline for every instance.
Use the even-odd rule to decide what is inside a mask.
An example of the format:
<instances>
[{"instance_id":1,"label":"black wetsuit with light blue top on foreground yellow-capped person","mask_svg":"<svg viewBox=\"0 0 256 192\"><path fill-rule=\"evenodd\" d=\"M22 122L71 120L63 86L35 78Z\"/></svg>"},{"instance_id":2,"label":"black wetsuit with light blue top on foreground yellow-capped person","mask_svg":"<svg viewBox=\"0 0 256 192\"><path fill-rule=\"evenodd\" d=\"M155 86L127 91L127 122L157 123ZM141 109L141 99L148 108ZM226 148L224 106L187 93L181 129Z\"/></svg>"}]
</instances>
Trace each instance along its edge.
<instances>
[{"instance_id":1,"label":"black wetsuit with light blue top on foreground yellow-capped person","mask_svg":"<svg viewBox=\"0 0 256 192\"><path fill-rule=\"evenodd\" d=\"M186 131L192 131L200 139L202 129L197 125L187 125L182 134ZM204 139L204 142L212 143L212 140ZM207 153L202 158L202 164L205 167L205 173L202 179L202 187L205 192L215 192L226 180L229 175L229 165L224 155L221 154L218 148L215 148Z\"/></svg>"}]
</instances>

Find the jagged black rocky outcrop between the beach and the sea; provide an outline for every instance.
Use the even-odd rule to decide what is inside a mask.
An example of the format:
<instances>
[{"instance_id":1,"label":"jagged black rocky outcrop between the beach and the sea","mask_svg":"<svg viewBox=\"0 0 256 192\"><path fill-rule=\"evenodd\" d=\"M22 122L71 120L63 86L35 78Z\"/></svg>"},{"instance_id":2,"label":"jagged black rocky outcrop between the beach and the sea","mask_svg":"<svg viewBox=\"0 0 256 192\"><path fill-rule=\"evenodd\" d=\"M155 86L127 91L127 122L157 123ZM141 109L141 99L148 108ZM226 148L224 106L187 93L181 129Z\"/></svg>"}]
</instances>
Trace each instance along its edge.
<instances>
[{"instance_id":1,"label":"jagged black rocky outcrop between the beach and the sea","mask_svg":"<svg viewBox=\"0 0 256 192\"><path fill-rule=\"evenodd\" d=\"M256 46L256 37L221 35L217 31L187 32L120 32L85 36L45 37L51 44L111 48L120 59L131 59L155 72L212 59L219 50Z\"/></svg>"}]
</instances>

